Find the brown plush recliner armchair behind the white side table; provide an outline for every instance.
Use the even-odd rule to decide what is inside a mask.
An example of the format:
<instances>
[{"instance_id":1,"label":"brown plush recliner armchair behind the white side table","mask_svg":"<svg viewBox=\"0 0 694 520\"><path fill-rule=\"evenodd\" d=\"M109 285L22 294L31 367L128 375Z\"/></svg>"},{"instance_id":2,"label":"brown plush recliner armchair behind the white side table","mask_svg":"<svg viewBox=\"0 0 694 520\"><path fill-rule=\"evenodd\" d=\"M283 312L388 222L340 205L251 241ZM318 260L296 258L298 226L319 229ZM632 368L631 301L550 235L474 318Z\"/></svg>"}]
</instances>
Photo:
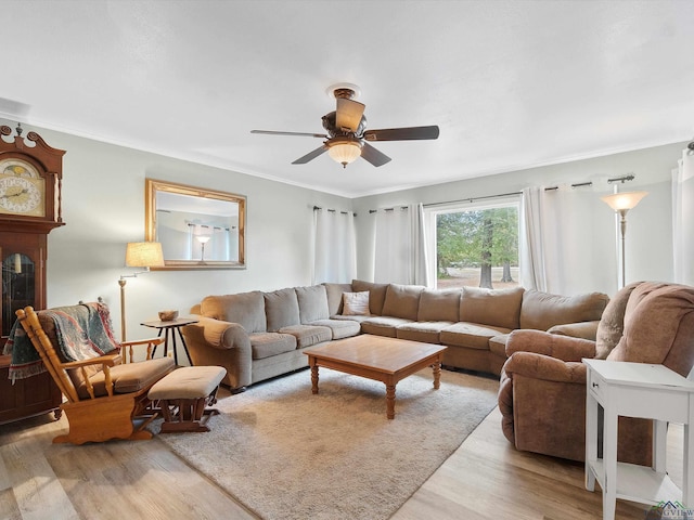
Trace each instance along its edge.
<instances>
[{"instance_id":1,"label":"brown plush recliner armchair behind the white side table","mask_svg":"<svg viewBox=\"0 0 694 520\"><path fill-rule=\"evenodd\" d=\"M663 364L686 377L694 364L694 287L641 282L603 312L596 341L515 330L499 389L504 435L517 450L586 457L583 358ZM651 465L651 420L619 418L618 458Z\"/></svg>"}]
</instances>

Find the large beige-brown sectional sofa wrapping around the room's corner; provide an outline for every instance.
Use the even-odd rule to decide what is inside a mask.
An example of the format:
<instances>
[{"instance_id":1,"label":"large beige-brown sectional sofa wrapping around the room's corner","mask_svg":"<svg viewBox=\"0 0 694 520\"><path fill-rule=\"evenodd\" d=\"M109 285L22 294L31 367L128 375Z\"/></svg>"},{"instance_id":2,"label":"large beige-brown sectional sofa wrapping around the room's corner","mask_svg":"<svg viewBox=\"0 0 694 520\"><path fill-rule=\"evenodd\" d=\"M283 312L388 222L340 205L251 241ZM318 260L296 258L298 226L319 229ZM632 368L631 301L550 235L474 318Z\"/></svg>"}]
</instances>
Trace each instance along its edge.
<instances>
[{"instance_id":1,"label":"large beige-brown sectional sofa wrapping around the room's corner","mask_svg":"<svg viewBox=\"0 0 694 520\"><path fill-rule=\"evenodd\" d=\"M227 368L241 389L307 365L305 349L358 334L448 346L447 366L501 373L512 330L595 339L607 295L564 297L525 290L436 290L413 285L321 284L207 296L182 327L193 364Z\"/></svg>"}]
</instances>

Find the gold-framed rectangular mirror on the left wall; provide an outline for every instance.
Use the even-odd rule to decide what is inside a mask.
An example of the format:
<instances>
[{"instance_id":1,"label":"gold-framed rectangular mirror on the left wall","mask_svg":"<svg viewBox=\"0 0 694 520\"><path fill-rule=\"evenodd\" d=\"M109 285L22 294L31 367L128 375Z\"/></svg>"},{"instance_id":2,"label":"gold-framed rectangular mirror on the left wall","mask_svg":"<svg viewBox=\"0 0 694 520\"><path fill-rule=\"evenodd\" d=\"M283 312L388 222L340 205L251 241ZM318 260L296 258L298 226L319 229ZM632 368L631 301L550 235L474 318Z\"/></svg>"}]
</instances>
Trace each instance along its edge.
<instances>
[{"instance_id":1,"label":"gold-framed rectangular mirror on the left wall","mask_svg":"<svg viewBox=\"0 0 694 520\"><path fill-rule=\"evenodd\" d=\"M145 239L159 242L164 266L245 269L246 197L145 179Z\"/></svg>"}]
</instances>

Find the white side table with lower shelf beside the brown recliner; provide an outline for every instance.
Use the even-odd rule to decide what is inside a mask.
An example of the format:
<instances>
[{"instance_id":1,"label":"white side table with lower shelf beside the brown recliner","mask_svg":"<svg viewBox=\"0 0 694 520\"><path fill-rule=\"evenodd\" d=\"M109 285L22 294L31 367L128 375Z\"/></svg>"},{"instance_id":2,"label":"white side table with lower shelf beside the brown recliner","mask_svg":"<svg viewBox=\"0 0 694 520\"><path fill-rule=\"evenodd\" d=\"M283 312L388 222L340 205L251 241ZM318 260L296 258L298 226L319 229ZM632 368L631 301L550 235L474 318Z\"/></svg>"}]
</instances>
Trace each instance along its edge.
<instances>
[{"instance_id":1,"label":"white side table with lower shelf beside the brown recliner","mask_svg":"<svg viewBox=\"0 0 694 520\"><path fill-rule=\"evenodd\" d=\"M583 360L586 401L586 489L603 490L603 520L615 518L616 499L694 506L694 381L663 365ZM603 458L597 458L597 405L604 408ZM653 467L617 461L618 416L654 419ZM683 485L666 473L667 424L684 425ZM693 478L690 478L692 476Z\"/></svg>"}]
</instances>

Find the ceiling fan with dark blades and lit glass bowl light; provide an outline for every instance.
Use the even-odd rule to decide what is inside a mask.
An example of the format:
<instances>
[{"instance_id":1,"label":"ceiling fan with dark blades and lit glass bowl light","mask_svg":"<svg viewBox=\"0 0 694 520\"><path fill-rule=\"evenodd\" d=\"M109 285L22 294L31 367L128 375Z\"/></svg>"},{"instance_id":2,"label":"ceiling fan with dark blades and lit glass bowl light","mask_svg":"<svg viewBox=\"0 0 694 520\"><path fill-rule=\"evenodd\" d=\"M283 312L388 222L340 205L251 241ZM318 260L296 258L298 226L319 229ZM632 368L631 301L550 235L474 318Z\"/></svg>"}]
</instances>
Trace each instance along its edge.
<instances>
[{"instance_id":1,"label":"ceiling fan with dark blades and lit glass bowl light","mask_svg":"<svg viewBox=\"0 0 694 520\"><path fill-rule=\"evenodd\" d=\"M338 83L329 87L327 92L335 98L336 109L322 117L325 133L277 132L273 130L250 130L250 133L269 135L301 135L325 139L323 145L299 157L293 165L305 165L324 152L346 168L358 157L363 157L373 166L383 166L390 157L378 152L367 141L416 141L437 139L438 127L407 127L382 130L367 130L365 105L355 101L359 88L351 83Z\"/></svg>"}]
</instances>

